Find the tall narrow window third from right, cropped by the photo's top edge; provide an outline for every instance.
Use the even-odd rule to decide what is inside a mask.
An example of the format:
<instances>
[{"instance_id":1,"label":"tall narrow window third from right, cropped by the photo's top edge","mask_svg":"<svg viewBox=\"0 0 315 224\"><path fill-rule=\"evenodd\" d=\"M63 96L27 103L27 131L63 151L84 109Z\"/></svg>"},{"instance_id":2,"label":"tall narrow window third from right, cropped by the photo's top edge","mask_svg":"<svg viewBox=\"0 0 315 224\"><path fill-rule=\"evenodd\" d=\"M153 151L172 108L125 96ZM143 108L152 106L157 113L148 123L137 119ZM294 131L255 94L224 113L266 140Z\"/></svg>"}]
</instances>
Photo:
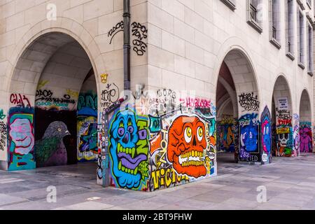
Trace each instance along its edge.
<instances>
[{"instance_id":1,"label":"tall narrow window third from right, cropped by the photo's top edge","mask_svg":"<svg viewBox=\"0 0 315 224\"><path fill-rule=\"evenodd\" d=\"M286 0L286 55L294 60L293 0Z\"/></svg>"}]
</instances>

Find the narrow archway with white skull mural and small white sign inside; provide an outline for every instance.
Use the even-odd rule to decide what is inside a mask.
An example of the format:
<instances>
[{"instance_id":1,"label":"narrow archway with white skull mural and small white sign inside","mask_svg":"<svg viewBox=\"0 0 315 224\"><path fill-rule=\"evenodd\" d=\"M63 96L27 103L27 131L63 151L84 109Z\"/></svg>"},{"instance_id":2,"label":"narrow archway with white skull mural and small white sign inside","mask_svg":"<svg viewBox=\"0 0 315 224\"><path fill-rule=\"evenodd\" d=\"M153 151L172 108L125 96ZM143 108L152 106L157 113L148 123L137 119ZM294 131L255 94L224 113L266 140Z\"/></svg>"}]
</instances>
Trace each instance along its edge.
<instances>
[{"instance_id":1,"label":"narrow archway with white skull mural and small white sign inside","mask_svg":"<svg viewBox=\"0 0 315 224\"><path fill-rule=\"evenodd\" d=\"M290 88L283 75L276 78L272 96L272 154L277 157L297 156L293 147L293 123L298 122L298 116L293 115Z\"/></svg>"}]
</instances>

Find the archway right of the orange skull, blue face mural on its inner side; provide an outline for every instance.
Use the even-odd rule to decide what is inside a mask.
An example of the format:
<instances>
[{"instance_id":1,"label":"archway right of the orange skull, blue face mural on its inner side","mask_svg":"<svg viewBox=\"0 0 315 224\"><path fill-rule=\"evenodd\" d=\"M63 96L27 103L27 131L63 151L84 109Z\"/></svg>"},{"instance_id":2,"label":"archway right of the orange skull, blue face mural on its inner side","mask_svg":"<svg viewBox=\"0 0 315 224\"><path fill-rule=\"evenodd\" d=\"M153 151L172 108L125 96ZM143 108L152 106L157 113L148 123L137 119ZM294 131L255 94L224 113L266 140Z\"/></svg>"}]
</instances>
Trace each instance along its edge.
<instances>
[{"instance_id":1,"label":"archway right of the orange skull, blue face mural on its inner side","mask_svg":"<svg viewBox=\"0 0 315 224\"><path fill-rule=\"evenodd\" d=\"M261 162L258 86L241 50L228 52L221 64L216 108L218 162Z\"/></svg>"}]
</instances>

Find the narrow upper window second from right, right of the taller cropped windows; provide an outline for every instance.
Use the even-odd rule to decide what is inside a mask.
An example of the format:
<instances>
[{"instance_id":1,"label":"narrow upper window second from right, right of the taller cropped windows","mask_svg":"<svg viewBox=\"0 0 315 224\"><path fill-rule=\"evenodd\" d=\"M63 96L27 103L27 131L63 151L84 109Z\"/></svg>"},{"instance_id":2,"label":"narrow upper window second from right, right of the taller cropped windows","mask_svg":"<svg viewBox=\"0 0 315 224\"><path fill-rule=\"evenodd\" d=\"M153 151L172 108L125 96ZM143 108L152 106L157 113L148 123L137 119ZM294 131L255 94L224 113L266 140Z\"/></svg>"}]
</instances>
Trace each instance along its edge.
<instances>
[{"instance_id":1,"label":"narrow upper window second from right, right of the taller cropped windows","mask_svg":"<svg viewBox=\"0 0 315 224\"><path fill-rule=\"evenodd\" d=\"M304 66L304 17L303 13L300 10L300 7L297 7L297 52L298 52L298 63L302 69L305 69Z\"/></svg>"}]
</instances>

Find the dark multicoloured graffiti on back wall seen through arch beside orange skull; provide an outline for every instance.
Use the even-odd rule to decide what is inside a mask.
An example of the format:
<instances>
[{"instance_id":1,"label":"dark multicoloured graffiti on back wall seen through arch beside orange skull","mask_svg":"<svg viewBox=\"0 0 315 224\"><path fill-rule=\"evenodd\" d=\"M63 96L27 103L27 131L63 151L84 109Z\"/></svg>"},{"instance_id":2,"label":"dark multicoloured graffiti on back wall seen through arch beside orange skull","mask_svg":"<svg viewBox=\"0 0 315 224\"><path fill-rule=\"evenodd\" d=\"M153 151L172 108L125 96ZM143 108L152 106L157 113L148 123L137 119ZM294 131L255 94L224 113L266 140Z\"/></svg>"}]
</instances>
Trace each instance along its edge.
<instances>
[{"instance_id":1,"label":"dark multicoloured graffiti on back wall seen through arch beside orange skull","mask_svg":"<svg viewBox=\"0 0 315 224\"><path fill-rule=\"evenodd\" d=\"M233 116L223 116L223 119L217 122L216 127L218 151L234 153L237 120Z\"/></svg>"}]
</instances>

